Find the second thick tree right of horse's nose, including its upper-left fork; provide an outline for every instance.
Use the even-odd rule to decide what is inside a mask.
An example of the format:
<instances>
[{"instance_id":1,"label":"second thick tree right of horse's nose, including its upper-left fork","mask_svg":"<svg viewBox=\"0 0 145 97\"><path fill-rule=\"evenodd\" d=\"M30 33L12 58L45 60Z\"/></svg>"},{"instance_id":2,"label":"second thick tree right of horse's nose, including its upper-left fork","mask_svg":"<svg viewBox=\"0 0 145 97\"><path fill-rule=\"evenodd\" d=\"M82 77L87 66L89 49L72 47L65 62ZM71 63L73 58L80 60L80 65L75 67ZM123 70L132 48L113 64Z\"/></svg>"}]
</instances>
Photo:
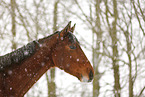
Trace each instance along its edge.
<instances>
[{"instance_id":1,"label":"second thick tree right of horse's nose, including its upper-left fork","mask_svg":"<svg viewBox=\"0 0 145 97\"><path fill-rule=\"evenodd\" d=\"M117 19L118 19L118 11L117 11L117 1L113 0L113 15L112 17L114 18L113 22L109 22L108 14L111 12L108 8L108 1L105 1L106 5L106 21L109 27L109 34L111 37L111 47L112 47L112 69L114 73L114 96L115 97L120 97L120 92L121 92L121 87L120 87L120 72L119 72L119 64L117 59L119 58L118 56L118 38L117 38Z\"/></svg>"}]
</instances>

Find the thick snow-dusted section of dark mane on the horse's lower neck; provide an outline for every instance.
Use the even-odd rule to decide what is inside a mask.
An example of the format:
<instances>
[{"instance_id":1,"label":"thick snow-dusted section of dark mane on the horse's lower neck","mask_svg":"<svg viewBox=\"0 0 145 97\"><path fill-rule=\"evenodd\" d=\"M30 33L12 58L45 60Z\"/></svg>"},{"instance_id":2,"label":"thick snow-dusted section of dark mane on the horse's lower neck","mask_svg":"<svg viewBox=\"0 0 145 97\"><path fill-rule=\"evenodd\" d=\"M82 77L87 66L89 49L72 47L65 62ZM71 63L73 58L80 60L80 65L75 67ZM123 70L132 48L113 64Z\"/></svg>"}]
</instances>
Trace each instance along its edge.
<instances>
[{"instance_id":1,"label":"thick snow-dusted section of dark mane on the horse's lower neck","mask_svg":"<svg viewBox=\"0 0 145 97\"><path fill-rule=\"evenodd\" d=\"M0 70L3 70L6 66L20 63L25 58L31 56L36 50L36 44L38 43L33 41L11 53L0 56Z\"/></svg>"}]
</instances>

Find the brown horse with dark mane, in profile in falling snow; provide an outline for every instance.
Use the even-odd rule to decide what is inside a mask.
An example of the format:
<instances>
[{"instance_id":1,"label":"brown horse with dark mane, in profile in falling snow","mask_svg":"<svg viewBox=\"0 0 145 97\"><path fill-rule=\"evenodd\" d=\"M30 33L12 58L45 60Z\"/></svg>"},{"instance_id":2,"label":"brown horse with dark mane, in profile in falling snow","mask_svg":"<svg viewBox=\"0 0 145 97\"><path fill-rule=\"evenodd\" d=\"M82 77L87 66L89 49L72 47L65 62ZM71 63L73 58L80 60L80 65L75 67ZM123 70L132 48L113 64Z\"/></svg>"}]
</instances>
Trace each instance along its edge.
<instances>
[{"instance_id":1,"label":"brown horse with dark mane, in profile in falling snow","mask_svg":"<svg viewBox=\"0 0 145 97\"><path fill-rule=\"evenodd\" d=\"M71 22L62 30L0 56L0 97L22 97L51 67L90 82L94 70L72 34Z\"/></svg>"}]
</instances>

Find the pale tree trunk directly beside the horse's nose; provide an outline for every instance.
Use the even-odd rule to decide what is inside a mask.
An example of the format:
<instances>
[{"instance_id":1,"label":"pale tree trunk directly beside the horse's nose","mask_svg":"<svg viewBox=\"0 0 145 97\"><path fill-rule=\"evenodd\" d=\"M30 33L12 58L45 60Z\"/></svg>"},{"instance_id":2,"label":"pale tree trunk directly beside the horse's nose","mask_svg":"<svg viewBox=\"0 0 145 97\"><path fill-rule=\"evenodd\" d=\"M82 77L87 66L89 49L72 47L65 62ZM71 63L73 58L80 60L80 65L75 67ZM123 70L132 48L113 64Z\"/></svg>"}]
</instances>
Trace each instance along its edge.
<instances>
[{"instance_id":1,"label":"pale tree trunk directly beside the horse's nose","mask_svg":"<svg viewBox=\"0 0 145 97\"><path fill-rule=\"evenodd\" d=\"M98 97L100 94L100 83L99 80L101 78L100 72L99 72L99 64L101 61L101 55L97 52L100 52L100 45L102 42L102 30L101 30L101 22L100 22L100 3L101 0L95 0L95 15L96 15L96 21L95 21L95 27L93 27L93 65L95 70L95 76L93 80L93 97ZM97 40L95 41L94 35L97 36Z\"/></svg>"}]
</instances>

